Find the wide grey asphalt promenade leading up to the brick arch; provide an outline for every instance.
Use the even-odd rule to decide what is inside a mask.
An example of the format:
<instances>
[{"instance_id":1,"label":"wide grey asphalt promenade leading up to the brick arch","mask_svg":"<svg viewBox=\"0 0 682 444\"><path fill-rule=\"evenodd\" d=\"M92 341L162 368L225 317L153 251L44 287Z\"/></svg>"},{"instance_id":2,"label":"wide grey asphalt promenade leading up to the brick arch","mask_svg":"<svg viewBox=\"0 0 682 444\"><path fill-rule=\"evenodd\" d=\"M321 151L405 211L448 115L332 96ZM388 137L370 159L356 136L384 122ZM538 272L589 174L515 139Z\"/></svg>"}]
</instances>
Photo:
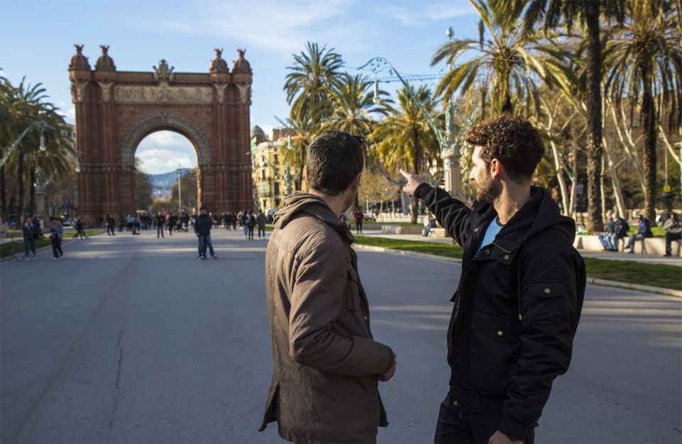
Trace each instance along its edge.
<instances>
[{"instance_id":1,"label":"wide grey asphalt promenade leading up to the brick arch","mask_svg":"<svg viewBox=\"0 0 682 444\"><path fill-rule=\"evenodd\" d=\"M216 231L97 235L0 265L1 443L278 443L259 433L271 374L264 241ZM381 384L379 443L433 442L459 265L359 252ZM570 370L538 443L680 443L682 300L588 287Z\"/></svg>"}]
</instances>

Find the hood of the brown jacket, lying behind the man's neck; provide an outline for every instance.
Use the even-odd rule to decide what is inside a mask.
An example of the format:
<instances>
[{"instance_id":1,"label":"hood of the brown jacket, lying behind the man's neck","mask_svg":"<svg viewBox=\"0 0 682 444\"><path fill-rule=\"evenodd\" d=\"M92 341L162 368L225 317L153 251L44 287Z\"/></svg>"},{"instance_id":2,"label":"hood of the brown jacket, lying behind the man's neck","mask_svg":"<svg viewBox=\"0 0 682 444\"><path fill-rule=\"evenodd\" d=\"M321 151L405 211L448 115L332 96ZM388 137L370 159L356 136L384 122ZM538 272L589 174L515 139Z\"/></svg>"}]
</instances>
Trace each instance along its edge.
<instances>
[{"instance_id":1,"label":"hood of the brown jacket, lying behind the man's neck","mask_svg":"<svg viewBox=\"0 0 682 444\"><path fill-rule=\"evenodd\" d=\"M274 215L274 228L284 228L293 218L301 216L301 213L320 219L344 234L351 243L354 242L355 238L346 222L342 221L322 198L305 192L295 192L284 200L282 208Z\"/></svg>"}]
</instances>

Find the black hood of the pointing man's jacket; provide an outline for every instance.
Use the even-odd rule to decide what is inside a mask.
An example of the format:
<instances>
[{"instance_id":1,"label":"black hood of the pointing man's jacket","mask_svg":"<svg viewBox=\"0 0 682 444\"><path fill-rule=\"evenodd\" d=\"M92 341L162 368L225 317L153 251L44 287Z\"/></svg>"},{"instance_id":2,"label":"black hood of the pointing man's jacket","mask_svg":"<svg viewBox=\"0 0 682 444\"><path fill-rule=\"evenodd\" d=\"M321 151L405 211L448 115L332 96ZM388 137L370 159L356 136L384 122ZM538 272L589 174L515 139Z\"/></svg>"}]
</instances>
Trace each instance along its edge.
<instances>
[{"instance_id":1,"label":"black hood of the pointing man's jacket","mask_svg":"<svg viewBox=\"0 0 682 444\"><path fill-rule=\"evenodd\" d=\"M475 211L479 213L479 220L487 220L496 214L492 204L479 204L475 206ZM565 235L571 244L575 240L575 221L561 215L558 205L546 189L531 187L531 199L509 219L495 242L513 251L527 238L550 228Z\"/></svg>"}]
</instances>

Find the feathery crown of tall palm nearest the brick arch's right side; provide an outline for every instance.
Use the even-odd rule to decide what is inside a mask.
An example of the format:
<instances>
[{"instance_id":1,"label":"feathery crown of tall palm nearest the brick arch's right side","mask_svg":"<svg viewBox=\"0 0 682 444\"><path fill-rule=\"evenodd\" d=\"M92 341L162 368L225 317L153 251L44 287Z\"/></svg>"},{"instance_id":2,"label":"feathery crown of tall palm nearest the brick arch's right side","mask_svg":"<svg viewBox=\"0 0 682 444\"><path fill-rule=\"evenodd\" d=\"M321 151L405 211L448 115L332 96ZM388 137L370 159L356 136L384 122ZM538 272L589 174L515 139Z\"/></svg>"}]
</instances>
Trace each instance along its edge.
<instances>
[{"instance_id":1,"label":"feathery crown of tall palm nearest the brick arch's right side","mask_svg":"<svg viewBox=\"0 0 682 444\"><path fill-rule=\"evenodd\" d=\"M343 66L341 55L334 48L320 48L317 43L306 43L305 52L293 56L294 64L286 75L284 91L286 101L291 105L290 118L303 121L305 118L323 118L320 107L324 107L332 87L340 77Z\"/></svg>"}]
</instances>

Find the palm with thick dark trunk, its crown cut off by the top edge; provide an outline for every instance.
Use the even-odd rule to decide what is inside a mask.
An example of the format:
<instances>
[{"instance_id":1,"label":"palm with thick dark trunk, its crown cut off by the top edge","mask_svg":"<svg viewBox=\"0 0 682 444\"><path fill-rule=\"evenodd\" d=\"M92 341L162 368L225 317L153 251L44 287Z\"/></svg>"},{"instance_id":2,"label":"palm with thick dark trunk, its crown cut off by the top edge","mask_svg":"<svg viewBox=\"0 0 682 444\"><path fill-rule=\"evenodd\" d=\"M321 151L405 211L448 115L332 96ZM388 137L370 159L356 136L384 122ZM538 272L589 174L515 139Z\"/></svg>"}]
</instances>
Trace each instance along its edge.
<instances>
[{"instance_id":1,"label":"palm with thick dark trunk, its crown cut off by the top edge","mask_svg":"<svg viewBox=\"0 0 682 444\"><path fill-rule=\"evenodd\" d=\"M600 175L602 172L602 42L600 40L600 15L624 19L624 0L565 1L517 0L515 8L528 6L524 14L524 33L530 33L538 21L543 20L547 31L565 23L572 28L580 21L587 28L586 98L588 107L588 231L602 231L602 199Z\"/></svg>"}]
</instances>

